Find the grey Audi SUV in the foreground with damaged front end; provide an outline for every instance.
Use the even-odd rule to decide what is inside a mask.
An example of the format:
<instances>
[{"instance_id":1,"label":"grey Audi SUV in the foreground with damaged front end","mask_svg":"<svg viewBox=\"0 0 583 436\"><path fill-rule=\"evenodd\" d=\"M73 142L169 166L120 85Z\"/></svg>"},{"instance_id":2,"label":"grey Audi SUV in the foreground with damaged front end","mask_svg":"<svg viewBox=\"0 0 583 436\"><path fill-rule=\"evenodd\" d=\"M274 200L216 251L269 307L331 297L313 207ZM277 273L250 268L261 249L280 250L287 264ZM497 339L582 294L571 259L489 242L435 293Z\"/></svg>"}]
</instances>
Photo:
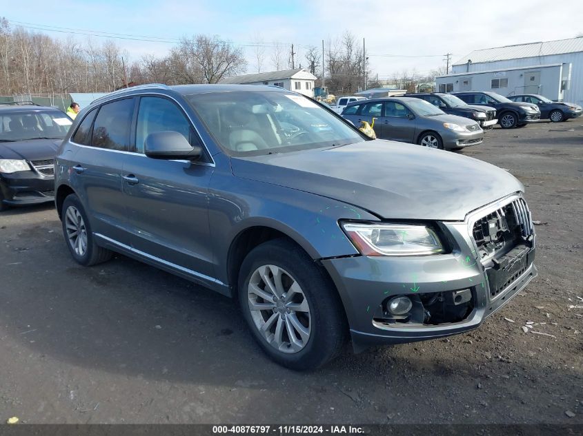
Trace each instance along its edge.
<instances>
[{"instance_id":1,"label":"grey Audi SUV in the foreground with damaged front end","mask_svg":"<svg viewBox=\"0 0 583 436\"><path fill-rule=\"evenodd\" d=\"M536 276L511 174L373 141L275 87L113 92L79 113L56 159L75 261L118 251L237 298L290 368L326 363L348 334L362 350L475 329Z\"/></svg>"}]
</instances>

